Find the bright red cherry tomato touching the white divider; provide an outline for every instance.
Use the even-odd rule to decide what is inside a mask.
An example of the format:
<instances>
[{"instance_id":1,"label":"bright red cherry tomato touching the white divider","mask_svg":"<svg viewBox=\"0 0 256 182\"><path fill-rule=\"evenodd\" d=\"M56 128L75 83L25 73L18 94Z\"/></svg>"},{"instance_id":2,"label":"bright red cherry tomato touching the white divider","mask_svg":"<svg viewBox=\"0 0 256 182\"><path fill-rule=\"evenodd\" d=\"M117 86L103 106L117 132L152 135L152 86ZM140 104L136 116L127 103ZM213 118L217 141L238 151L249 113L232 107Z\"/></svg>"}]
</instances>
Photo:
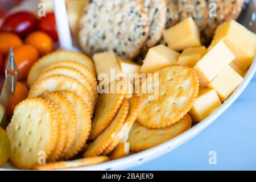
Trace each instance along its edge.
<instances>
[{"instance_id":1,"label":"bright red cherry tomato touching the white divider","mask_svg":"<svg viewBox=\"0 0 256 182\"><path fill-rule=\"evenodd\" d=\"M58 40L54 13L47 13L46 16L43 16L41 19L39 19L38 30L43 31L51 36L54 42Z\"/></svg>"}]
</instances>

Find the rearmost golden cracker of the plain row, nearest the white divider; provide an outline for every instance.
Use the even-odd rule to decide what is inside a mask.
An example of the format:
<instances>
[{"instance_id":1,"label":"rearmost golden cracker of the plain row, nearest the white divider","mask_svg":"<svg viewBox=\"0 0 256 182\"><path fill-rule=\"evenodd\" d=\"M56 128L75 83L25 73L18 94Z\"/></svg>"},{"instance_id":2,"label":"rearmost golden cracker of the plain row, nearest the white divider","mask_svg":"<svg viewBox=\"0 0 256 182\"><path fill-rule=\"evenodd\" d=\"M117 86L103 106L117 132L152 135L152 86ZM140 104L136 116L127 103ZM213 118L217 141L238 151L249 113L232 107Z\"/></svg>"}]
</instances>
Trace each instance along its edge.
<instances>
[{"instance_id":1,"label":"rearmost golden cracker of the plain row, nearest the white divider","mask_svg":"<svg viewBox=\"0 0 256 182\"><path fill-rule=\"evenodd\" d=\"M86 68L90 69L90 71L92 71L92 73L96 76L96 70L93 61L88 56L74 51L55 51L41 57L31 67L30 72L27 76L28 86L32 86L32 84L36 80L36 77L38 77L39 73L42 72L44 68L48 67L53 63L66 60L76 61L77 63L84 65Z\"/></svg>"}]
</instances>

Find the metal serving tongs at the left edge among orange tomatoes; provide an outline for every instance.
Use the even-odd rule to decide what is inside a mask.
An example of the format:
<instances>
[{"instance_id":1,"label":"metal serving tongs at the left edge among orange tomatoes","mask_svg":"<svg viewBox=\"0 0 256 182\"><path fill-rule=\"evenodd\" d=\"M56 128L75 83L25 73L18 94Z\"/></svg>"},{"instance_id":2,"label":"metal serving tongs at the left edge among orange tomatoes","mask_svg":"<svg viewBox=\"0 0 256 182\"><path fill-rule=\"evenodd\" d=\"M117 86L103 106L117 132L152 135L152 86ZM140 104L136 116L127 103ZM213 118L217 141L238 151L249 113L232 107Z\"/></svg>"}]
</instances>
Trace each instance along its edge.
<instances>
[{"instance_id":1,"label":"metal serving tongs at the left edge among orange tomatoes","mask_svg":"<svg viewBox=\"0 0 256 182\"><path fill-rule=\"evenodd\" d=\"M7 59L7 64L5 68L5 82L3 83L3 88L0 94L0 126L5 128L7 124L6 118L6 107L9 101L9 98L13 96L16 82L18 80L18 71L16 68L13 48L10 47L9 55Z\"/></svg>"}]
</instances>

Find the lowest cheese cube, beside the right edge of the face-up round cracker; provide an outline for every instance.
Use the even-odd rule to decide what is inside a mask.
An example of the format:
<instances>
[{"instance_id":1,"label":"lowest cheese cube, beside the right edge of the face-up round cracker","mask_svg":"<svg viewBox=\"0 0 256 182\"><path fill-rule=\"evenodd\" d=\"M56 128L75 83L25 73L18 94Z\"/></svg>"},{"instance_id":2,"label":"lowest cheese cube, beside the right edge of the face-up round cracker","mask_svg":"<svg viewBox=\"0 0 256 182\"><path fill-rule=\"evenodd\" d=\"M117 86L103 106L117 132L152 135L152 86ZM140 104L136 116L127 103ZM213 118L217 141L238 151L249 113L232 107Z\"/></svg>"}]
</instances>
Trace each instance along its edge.
<instances>
[{"instance_id":1,"label":"lowest cheese cube, beside the right edge of the face-up round cracker","mask_svg":"<svg viewBox=\"0 0 256 182\"><path fill-rule=\"evenodd\" d=\"M221 106L220 98L214 89L200 88L196 101L189 111L193 121L200 122Z\"/></svg>"}]
</instances>

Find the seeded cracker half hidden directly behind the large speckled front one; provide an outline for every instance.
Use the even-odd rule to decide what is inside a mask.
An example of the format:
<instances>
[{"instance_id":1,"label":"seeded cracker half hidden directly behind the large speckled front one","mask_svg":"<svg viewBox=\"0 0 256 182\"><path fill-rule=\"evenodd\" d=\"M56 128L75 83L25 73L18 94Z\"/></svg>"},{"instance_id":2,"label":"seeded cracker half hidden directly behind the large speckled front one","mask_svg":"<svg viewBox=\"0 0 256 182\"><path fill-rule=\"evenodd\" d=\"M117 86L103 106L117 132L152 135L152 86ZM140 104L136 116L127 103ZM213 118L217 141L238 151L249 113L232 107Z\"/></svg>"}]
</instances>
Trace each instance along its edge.
<instances>
[{"instance_id":1,"label":"seeded cracker half hidden directly behind the large speckled front one","mask_svg":"<svg viewBox=\"0 0 256 182\"><path fill-rule=\"evenodd\" d=\"M148 7L150 19L150 31L142 48L145 52L148 48L155 46L162 38L166 26L167 9L165 0L143 0L143 2Z\"/></svg>"}]
</instances>

